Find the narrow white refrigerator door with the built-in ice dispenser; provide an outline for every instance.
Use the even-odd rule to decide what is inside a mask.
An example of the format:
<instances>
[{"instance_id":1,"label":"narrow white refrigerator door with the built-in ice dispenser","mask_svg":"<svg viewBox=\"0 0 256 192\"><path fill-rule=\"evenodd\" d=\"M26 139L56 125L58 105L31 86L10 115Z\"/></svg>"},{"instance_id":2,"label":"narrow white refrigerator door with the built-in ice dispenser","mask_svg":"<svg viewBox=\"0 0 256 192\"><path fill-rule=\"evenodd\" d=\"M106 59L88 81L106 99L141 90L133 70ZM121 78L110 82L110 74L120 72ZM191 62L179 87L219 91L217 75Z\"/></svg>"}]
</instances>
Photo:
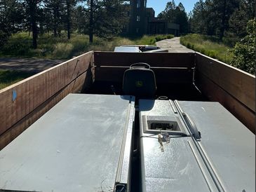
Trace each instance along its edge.
<instances>
[{"instance_id":1,"label":"narrow white refrigerator door with the built-in ice dispenser","mask_svg":"<svg viewBox=\"0 0 256 192\"><path fill-rule=\"evenodd\" d=\"M139 110L142 191L217 191L175 104L171 100L140 100ZM150 122L177 119L186 135L170 134L166 139L165 130L152 132L145 128Z\"/></svg>"}]
</instances>

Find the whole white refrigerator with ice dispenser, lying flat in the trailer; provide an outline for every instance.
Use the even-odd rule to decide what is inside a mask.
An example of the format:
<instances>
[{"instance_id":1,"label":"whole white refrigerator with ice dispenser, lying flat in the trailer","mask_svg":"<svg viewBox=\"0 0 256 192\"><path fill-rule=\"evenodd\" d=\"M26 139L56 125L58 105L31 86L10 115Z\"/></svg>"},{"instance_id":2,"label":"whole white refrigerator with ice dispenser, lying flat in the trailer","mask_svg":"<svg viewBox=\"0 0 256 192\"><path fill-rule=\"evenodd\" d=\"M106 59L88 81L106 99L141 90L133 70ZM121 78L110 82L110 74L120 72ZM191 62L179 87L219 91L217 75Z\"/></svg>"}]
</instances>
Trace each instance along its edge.
<instances>
[{"instance_id":1,"label":"whole white refrigerator with ice dispenser, lying flat in the trailer","mask_svg":"<svg viewBox=\"0 0 256 192\"><path fill-rule=\"evenodd\" d=\"M255 135L219 103L139 107L142 191L255 191Z\"/></svg>"}]
</instances>

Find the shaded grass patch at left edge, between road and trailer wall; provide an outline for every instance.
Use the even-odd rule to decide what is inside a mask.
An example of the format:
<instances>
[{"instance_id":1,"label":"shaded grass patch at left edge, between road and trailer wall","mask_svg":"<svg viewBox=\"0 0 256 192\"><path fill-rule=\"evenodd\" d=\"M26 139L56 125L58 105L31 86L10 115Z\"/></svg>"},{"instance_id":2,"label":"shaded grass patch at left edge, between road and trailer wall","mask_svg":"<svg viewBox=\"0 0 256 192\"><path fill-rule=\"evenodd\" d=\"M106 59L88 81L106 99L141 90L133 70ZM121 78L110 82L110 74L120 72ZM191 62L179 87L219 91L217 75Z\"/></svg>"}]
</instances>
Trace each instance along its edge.
<instances>
[{"instance_id":1,"label":"shaded grass patch at left edge, between road and trailer wall","mask_svg":"<svg viewBox=\"0 0 256 192\"><path fill-rule=\"evenodd\" d=\"M32 75L33 75L32 72L11 71L11 70L0 69L0 90Z\"/></svg>"}]
</instances>

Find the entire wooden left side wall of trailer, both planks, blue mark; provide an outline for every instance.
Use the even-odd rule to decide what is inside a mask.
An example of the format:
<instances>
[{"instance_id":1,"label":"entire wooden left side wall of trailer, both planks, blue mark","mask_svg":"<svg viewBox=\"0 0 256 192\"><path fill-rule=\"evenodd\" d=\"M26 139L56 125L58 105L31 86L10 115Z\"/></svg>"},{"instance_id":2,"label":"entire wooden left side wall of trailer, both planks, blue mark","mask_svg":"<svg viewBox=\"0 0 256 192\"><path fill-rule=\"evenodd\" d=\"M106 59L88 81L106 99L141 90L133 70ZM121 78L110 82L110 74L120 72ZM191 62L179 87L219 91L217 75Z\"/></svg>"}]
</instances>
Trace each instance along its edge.
<instances>
[{"instance_id":1,"label":"entire wooden left side wall of trailer, both planks, blue mark","mask_svg":"<svg viewBox=\"0 0 256 192\"><path fill-rule=\"evenodd\" d=\"M91 51L0 90L0 150L67 94L90 84L92 65Z\"/></svg>"}]
</instances>

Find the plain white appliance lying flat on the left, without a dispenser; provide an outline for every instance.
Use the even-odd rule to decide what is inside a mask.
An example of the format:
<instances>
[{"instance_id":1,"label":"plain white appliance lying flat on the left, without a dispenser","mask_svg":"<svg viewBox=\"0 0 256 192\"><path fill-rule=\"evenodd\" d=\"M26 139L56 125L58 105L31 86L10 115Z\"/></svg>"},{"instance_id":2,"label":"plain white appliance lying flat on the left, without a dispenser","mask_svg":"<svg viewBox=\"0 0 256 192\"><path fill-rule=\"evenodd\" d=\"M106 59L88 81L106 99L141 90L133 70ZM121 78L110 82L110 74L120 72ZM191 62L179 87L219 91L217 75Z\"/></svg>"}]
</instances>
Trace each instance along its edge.
<instances>
[{"instance_id":1,"label":"plain white appliance lying flat on the left, without a dispenser","mask_svg":"<svg viewBox=\"0 0 256 192\"><path fill-rule=\"evenodd\" d=\"M0 191L113 191L129 182L134 97L70 94L0 151Z\"/></svg>"}]
</instances>

